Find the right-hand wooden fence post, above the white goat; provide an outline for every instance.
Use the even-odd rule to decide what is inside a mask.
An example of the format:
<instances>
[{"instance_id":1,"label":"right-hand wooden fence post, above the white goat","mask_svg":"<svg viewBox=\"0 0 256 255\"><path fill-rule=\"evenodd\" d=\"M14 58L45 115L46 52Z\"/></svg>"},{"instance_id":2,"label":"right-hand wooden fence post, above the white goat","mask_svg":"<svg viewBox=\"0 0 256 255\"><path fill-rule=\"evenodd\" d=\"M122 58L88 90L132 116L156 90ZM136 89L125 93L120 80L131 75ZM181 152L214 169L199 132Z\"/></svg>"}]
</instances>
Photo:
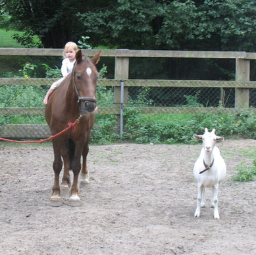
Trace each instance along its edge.
<instances>
[{"instance_id":1,"label":"right-hand wooden fence post, above the white goat","mask_svg":"<svg viewBox=\"0 0 256 255\"><path fill-rule=\"evenodd\" d=\"M250 60L236 58L236 81L250 80ZM249 89L236 87L235 107L249 107Z\"/></svg>"}]
</instances>

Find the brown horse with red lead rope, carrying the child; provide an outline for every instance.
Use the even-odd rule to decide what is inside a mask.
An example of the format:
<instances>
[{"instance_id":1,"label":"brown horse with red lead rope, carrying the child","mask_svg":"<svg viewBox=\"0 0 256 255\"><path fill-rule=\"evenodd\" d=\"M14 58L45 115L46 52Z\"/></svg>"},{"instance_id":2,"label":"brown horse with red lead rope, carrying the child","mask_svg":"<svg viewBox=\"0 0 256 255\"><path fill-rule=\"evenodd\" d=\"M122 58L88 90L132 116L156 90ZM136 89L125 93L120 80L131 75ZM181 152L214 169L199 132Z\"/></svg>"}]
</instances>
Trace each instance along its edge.
<instances>
[{"instance_id":1,"label":"brown horse with red lead rope, carrying the child","mask_svg":"<svg viewBox=\"0 0 256 255\"><path fill-rule=\"evenodd\" d=\"M90 130L95 120L96 104L96 83L98 72L95 65L99 62L99 53L93 58L83 57L81 51L76 53L76 63L72 73L55 89L47 106L45 107L45 119L51 129L51 134L55 135L68 127L68 122L79 123L73 129L53 138L54 161L53 170L55 179L51 195L51 205L61 206L61 189L59 185L59 175L64 163L62 188L70 187L69 170L74 173L72 187L70 189L69 204L78 206L78 175L80 181L88 183L88 169L86 157L89 152ZM63 158L63 161L62 159Z\"/></svg>"}]
</instances>

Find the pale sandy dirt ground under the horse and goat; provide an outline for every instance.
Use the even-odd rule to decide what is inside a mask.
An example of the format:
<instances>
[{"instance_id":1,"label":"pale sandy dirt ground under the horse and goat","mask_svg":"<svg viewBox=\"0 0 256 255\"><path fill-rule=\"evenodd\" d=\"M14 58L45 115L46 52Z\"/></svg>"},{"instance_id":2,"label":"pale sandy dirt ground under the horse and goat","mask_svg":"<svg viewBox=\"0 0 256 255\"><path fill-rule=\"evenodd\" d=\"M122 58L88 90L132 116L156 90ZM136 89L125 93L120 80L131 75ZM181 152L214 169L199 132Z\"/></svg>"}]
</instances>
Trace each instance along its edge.
<instances>
[{"instance_id":1,"label":"pale sandy dirt ground under the horse and goat","mask_svg":"<svg viewBox=\"0 0 256 255\"><path fill-rule=\"evenodd\" d=\"M256 181L231 180L256 140L218 143L227 166L220 220L194 218L198 145L90 146L81 205L49 204L53 149L0 143L0 254L256 254Z\"/></svg>"}]
</instances>

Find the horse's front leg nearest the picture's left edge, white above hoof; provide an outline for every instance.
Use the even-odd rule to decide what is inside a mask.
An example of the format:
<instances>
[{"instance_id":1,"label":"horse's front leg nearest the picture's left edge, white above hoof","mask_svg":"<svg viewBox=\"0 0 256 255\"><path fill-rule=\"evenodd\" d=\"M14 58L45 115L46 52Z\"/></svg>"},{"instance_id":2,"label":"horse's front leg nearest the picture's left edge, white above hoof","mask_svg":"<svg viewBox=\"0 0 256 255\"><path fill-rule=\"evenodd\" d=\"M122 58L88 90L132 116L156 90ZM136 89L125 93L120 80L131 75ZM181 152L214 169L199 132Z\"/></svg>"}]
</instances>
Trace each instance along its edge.
<instances>
[{"instance_id":1,"label":"horse's front leg nearest the picture's left edge, white above hoof","mask_svg":"<svg viewBox=\"0 0 256 255\"><path fill-rule=\"evenodd\" d=\"M56 146L53 142L54 150L54 161L53 161L53 171L54 171L54 183L53 192L51 194L51 206L61 206L61 189L59 186L59 175L61 173L61 168L63 167L63 162L61 160L61 154L59 146Z\"/></svg>"}]
</instances>

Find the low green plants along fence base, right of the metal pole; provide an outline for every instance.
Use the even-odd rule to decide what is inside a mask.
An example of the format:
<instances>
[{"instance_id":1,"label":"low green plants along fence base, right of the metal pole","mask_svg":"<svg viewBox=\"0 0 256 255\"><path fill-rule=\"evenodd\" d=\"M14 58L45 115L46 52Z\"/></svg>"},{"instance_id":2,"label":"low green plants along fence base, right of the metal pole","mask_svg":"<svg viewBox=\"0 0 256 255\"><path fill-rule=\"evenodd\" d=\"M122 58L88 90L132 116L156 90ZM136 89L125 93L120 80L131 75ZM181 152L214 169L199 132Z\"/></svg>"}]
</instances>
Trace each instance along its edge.
<instances>
[{"instance_id":1,"label":"low green plants along fence base, right of the metal pole","mask_svg":"<svg viewBox=\"0 0 256 255\"><path fill-rule=\"evenodd\" d=\"M243 114L141 114L128 106L124 115L124 137L136 143L196 143L193 134L203 133L205 127L217 129L224 137L256 138L255 114L247 114L247 122L243 122Z\"/></svg>"}]
</instances>

